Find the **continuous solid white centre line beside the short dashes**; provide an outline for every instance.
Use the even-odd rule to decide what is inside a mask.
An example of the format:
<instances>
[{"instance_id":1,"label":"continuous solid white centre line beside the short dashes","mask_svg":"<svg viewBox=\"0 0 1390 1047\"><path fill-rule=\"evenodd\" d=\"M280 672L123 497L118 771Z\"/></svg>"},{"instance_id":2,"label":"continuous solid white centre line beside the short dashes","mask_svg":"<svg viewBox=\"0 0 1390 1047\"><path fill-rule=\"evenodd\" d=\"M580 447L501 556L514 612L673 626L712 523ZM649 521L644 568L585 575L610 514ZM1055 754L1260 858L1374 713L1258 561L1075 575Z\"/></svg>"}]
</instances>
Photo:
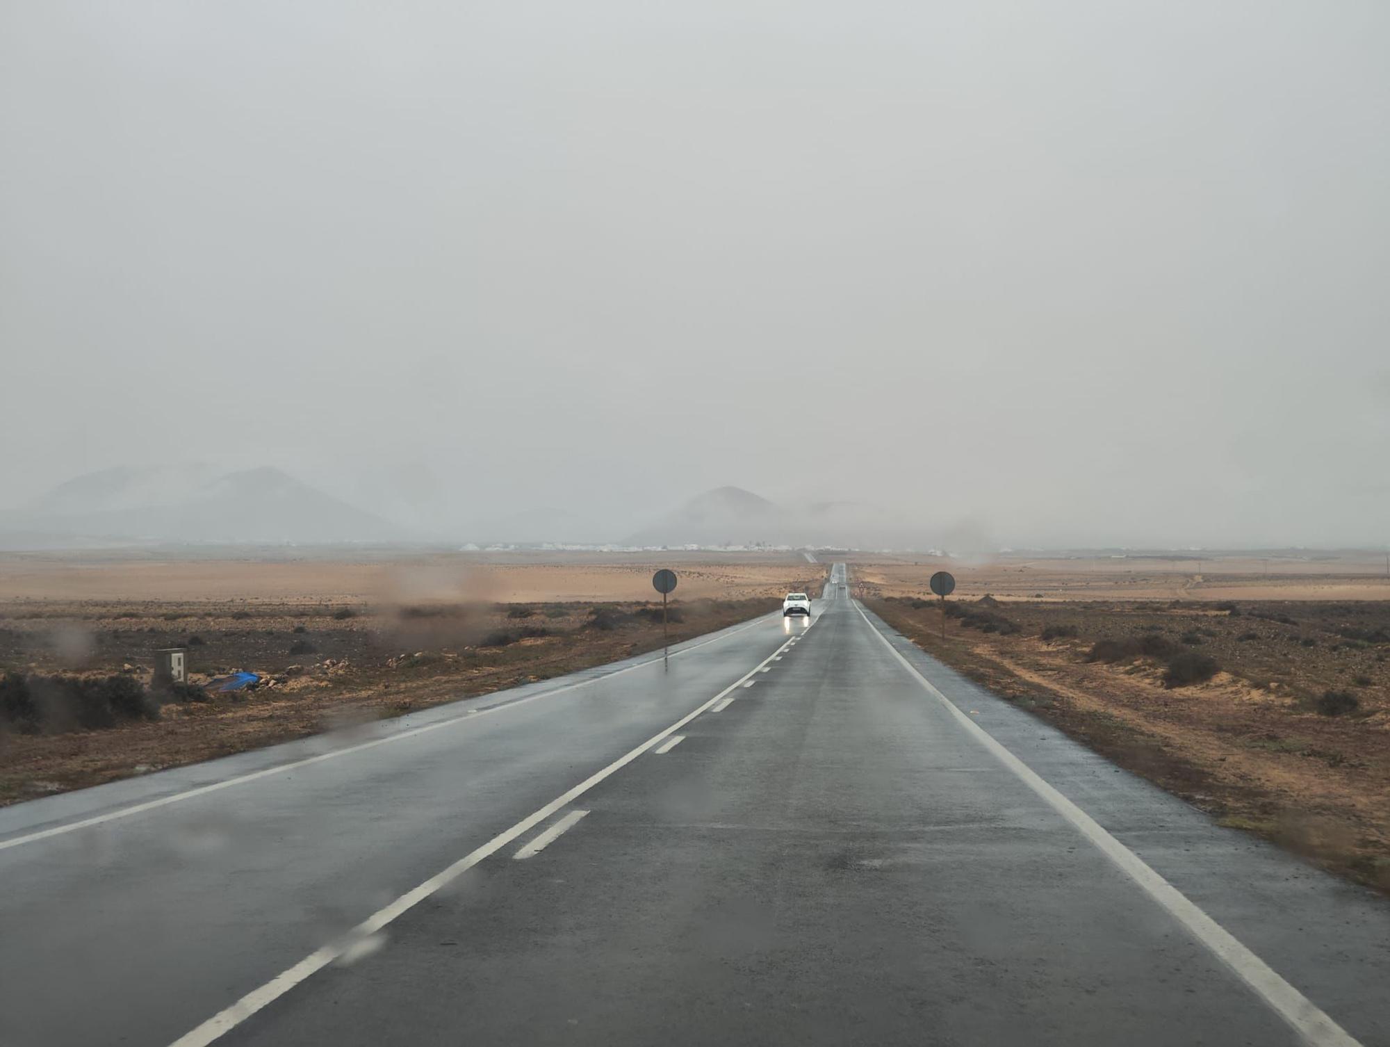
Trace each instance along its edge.
<instances>
[{"instance_id":1,"label":"continuous solid white centre line beside the short dashes","mask_svg":"<svg viewBox=\"0 0 1390 1047\"><path fill-rule=\"evenodd\" d=\"M777 648L777 651L781 651L781 648ZM777 654L777 651L774 651L773 654ZM275 977L272 977L270 982L260 986L259 989L253 989L240 1000L234 1003L231 1007L218 1011L215 1015L208 1018L196 1029L192 1029L190 1032L178 1037L171 1044L171 1047L206 1047L224 1033L231 1032L238 1025L250 1018L253 1014L256 1014L261 1008L267 1007L268 1004L272 1004L275 1000L282 997L285 993L297 986L300 982L304 982L314 973L322 971L325 966L332 964L335 959L343 955L349 948L352 948L353 943L357 943L364 937L375 934L378 930L385 927L393 919L396 919L404 912L409 912L413 907L418 905L421 901L428 898L439 888L453 883L456 879L459 879L463 873L466 873L474 865L481 862L484 858L496 854L503 847L510 844L513 840L528 833L531 829L534 829L541 822L548 819L556 811L560 811L569 804L573 804L575 800L582 797L596 784L603 781L603 779L621 770L653 745L659 745L660 742L663 742L666 738L669 738L671 734L678 731L687 723L694 720L702 712L716 705L717 702L723 701L735 687L738 687L739 684L744 683L744 680L756 673L770 658L771 655L764 658L756 666L753 666L741 677L734 680L734 683L731 683L723 691L720 691L719 694L716 694L713 698L703 702L698 708L692 709L691 712L685 713L681 719L678 719L666 730L660 731L659 734L653 734L651 738L644 741L635 749L628 749L626 754L619 756L616 761L609 763L602 770L596 770L595 773L589 774L587 779L584 779L584 781L567 790L566 793L562 793L560 795L557 795L555 800L552 800L549 804L539 808L538 811L534 811L532 813L527 815L510 829L499 833L498 836L488 840L488 843L470 851L463 858L456 861L453 865L431 876L418 887L406 891L385 908L378 909L371 916L359 923L356 927L353 927L350 932L339 937L336 941L332 941L321 948L314 950L307 957L295 964L292 968L282 971L281 973L278 973Z\"/></svg>"}]
</instances>

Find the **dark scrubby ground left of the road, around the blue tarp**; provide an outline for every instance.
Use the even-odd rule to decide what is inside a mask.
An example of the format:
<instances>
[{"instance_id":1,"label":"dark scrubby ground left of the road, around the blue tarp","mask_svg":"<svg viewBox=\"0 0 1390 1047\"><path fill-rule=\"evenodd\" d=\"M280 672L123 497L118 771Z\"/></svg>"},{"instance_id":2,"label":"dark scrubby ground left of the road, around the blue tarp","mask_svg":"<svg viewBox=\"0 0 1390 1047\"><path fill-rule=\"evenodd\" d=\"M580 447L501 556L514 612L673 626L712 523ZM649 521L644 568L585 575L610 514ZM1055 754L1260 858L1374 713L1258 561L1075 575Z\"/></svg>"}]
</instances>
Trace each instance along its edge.
<instances>
[{"instance_id":1,"label":"dark scrubby ground left of the road, around the blue tarp","mask_svg":"<svg viewBox=\"0 0 1390 1047\"><path fill-rule=\"evenodd\" d=\"M671 642L773 610L677 601ZM189 681L153 685L157 651ZM587 669L662 647L659 603L0 608L0 802L97 784ZM260 676L220 691L218 677Z\"/></svg>"}]
</instances>

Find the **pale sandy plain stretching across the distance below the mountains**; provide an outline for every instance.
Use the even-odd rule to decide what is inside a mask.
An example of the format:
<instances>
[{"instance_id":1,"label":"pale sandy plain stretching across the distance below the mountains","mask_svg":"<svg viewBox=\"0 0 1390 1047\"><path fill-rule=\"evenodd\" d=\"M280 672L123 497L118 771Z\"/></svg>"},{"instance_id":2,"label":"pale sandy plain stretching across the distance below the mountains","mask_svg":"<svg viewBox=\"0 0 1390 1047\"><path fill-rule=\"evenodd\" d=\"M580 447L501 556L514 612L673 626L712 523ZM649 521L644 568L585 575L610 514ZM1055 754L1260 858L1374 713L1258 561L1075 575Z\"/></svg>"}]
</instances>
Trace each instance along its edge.
<instances>
[{"instance_id":1,"label":"pale sandy plain stretching across the distance below the mountains","mask_svg":"<svg viewBox=\"0 0 1390 1047\"><path fill-rule=\"evenodd\" d=\"M1380 552L1008 553L991 559L820 553L883 596L926 590L948 570L956 595L997 599L1390 599ZM785 592L796 552L402 552L208 549L0 553L0 603L22 601L614 601L646 599L671 567L687 599Z\"/></svg>"}]
</instances>

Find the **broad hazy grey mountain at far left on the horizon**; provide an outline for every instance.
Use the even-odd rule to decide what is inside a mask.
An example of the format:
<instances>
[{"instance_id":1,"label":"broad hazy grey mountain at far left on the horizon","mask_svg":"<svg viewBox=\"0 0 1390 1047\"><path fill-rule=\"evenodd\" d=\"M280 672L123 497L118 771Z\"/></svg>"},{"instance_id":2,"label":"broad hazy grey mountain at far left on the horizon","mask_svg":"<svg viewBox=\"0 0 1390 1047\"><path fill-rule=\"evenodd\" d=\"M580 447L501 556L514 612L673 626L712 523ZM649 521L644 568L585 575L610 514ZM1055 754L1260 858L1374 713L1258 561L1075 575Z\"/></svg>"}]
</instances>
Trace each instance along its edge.
<instances>
[{"instance_id":1,"label":"broad hazy grey mountain at far left on the horizon","mask_svg":"<svg viewBox=\"0 0 1390 1047\"><path fill-rule=\"evenodd\" d=\"M49 544L97 538L174 542L393 541L400 528L278 469L221 471L204 464L104 469L68 480L0 531Z\"/></svg>"}]
</instances>

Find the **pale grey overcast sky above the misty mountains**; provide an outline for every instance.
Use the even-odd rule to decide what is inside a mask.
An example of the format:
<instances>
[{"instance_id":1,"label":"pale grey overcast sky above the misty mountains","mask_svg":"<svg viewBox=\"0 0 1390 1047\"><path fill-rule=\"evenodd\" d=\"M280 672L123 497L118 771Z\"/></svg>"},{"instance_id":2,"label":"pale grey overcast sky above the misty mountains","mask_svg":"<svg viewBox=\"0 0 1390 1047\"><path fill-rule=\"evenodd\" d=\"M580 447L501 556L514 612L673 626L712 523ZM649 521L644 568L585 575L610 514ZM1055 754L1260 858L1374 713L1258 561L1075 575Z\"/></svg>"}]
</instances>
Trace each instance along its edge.
<instances>
[{"instance_id":1,"label":"pale grey overcast sky above the misty mountains","mask_svg":"<svg viewBox=\"0 0 1390 1047\"><path fill-rule=\"evenodd\" d=\"M1383 0L0 10L0 503L1390 538Z\"/></svg>"}]
</instances>

